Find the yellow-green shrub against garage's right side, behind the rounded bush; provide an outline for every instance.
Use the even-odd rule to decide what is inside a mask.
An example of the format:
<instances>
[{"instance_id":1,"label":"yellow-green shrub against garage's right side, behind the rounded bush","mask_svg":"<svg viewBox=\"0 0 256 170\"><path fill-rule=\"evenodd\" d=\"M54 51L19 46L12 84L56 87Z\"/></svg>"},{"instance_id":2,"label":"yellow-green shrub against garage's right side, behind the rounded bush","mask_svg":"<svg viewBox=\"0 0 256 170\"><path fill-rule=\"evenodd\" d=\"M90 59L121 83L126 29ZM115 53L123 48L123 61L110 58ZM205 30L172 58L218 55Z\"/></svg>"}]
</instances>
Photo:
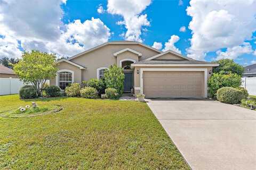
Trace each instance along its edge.
<instances>
[{"instance_id":1,"label":"yellow-green shrub against garage's right side, behind the rounded bush","mask_svg":"<svg viewBox=\"0 0 256 170\"><path fill-rule=\"evenodd\" d=\"M217 90L222 87L238 88L242 84L241 77L237 74L220 74L213 73L208 81L208 87L210 94L215 97Z\"/></svg>"}]
</instances>

